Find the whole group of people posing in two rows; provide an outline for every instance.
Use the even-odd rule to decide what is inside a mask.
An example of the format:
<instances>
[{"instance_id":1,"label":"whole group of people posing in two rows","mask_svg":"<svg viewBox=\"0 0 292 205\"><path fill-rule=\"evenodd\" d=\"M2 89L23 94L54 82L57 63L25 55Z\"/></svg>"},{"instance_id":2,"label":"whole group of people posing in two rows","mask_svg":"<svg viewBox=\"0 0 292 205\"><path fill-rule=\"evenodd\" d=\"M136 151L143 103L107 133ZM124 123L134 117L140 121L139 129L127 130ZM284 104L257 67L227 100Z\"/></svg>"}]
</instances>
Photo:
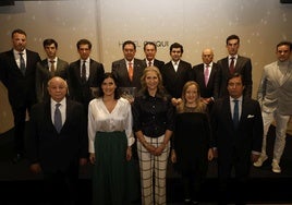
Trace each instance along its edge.
<instances>
[{"instance_id":1,"label":"whole group of people posing in two rows","mask_svg":"<svg viewBox=\"0 0 292 205\"><path fill-rule=\"evenodd\" d=\"M64 204L78 202L78 169L87 161L93 165L94 204L131 204L137 198L145 205L166 204L169 156L182 177L184 201L193 204L200 200L208 160L216 158L219 200L227 203L232 169L242 188L251 165L260 167L267 160L273 120L271 167L281 172L292 104L290 41L277 45L277 61L264 68L255 100L252 61L238 53L236 35L226 40L228 57L214 62L212 49L206 48L203 63L193 68L182 60L181 44L170 46L171 60L165 63L155 58L154 43L144 45L142 60L135 58L136 45L126 40L123 58L112 62L111 72L90 58L87 39L76 44L80 59L68 63L57 56L54 39L44 40L47 58L40 60L26 49L24 31L15 29L11 37L13 48L0 53L0 80L14 117L13 162L27 156L31 170L44 173L52 204L61 196Z\"/></svg>"}]
</instances>

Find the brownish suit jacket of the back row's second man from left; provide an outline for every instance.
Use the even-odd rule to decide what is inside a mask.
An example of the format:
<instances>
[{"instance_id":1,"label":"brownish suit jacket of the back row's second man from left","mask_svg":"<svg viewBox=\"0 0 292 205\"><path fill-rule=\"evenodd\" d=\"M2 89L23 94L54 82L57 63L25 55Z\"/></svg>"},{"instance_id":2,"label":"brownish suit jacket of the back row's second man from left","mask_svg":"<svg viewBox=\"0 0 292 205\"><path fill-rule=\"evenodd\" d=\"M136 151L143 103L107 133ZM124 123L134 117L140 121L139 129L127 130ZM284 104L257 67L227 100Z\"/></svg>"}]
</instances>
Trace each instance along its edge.
<instances>
[{"instance_id":1,"label":"brownish suit jacket of the back row's second man from left","mask_svg":"<svg viewBox=\"0 0 292 205\"><path fill-rule=\"evenodd\" d=\"M57 69L54 71L54 76L60 76L63 80L68 79L68 68L69 63L60 58L57 60ZM47 89L48 81L52 77L49 70L48 59L44 59L36 65L36 95L37 101L48 100L49 93Z\"/></svg>"}]
</instances>

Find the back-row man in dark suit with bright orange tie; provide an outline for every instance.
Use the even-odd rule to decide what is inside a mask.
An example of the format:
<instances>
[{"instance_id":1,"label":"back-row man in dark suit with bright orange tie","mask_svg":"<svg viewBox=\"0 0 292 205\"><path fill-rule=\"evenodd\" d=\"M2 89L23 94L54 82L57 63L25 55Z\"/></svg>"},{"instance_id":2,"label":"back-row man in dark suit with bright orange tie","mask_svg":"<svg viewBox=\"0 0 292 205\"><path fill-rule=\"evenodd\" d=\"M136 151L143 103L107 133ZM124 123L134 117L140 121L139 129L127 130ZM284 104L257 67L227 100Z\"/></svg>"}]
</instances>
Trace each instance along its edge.
<instances>
[{"instance_id":1,"label":"back-row man in dark suit with bright orange tie","mask_svg":"<svg viewBox=\"0 0 292 205\"><path fill-rule=\"evenodd\" d=\"M124 58L112 62L111 72L115 75L120 87L135 87L137 92L141 88L141 76L146 63L135 58L136 45L134 41L124 41L122 49ZM133 69L132 73L131 69Z\"/></svg>"}]
</instances>

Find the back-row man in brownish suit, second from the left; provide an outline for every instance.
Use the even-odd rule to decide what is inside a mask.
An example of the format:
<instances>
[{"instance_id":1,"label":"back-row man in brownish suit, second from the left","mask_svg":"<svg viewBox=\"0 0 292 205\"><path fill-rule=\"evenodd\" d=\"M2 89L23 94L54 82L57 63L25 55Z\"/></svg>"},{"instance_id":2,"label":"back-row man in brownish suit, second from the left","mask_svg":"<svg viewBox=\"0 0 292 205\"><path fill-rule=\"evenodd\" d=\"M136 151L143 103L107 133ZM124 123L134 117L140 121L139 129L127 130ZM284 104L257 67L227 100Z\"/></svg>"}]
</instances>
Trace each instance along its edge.
<instances>
[{"instance_id":1,"label":"back-row man in brownish suit, second from the left","mask_svg":"<svg viewBox=\"0 0 292 205\"><path fill-rule=\"evenodd\" d=\"M47 89L48 81L52 76L60 76L66 80L69 63L57 57L58 43L48 38L42 43L47 58L36 65L36 95L37 101L49 99Z\"/></svg>"}]
</instances>

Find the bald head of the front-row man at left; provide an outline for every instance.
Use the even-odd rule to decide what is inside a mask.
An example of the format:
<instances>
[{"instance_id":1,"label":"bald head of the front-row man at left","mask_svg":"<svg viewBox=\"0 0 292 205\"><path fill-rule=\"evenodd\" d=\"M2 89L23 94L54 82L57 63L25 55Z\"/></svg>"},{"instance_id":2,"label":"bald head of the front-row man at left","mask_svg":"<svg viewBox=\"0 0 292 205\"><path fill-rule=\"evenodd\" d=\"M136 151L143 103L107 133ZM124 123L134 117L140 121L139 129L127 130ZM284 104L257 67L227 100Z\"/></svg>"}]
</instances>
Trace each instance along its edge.
<instances>
[{"instance_id":1,"label":"bald head of the front-row man at left","mask_svg":"<svg viewBox=\"0 0 292 205\"><path fill-rule=\"evenodd\" d=\"M48 82L48 92L54 101L61 101L68 92L66 82L59 76L54 76Z\"/></svg>"}]
</instances>

